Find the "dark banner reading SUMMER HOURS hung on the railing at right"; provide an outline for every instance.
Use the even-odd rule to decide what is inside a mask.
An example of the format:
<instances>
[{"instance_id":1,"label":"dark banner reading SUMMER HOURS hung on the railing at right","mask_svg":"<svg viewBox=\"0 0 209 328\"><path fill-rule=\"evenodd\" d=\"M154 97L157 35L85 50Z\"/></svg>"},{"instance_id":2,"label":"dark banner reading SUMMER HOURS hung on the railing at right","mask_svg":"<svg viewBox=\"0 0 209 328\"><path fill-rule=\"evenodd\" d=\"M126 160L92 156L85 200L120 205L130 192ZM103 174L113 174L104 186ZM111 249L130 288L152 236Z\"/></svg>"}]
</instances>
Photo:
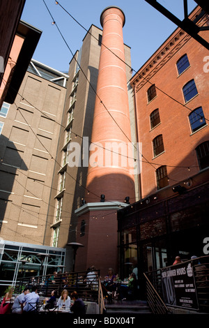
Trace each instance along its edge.
<instances>
[{"instance_id":1,"label":"dark banner reading SUMMER HOURS hung on the railing at right","mask_svg":"<svg viewBox=\"0 0 209 328\"><path fill-rule=\"evenodd\" d=\"M198 301L191 262L182 262L162 269L164 303L197 310Z\"/></svg>"}]
</instances>

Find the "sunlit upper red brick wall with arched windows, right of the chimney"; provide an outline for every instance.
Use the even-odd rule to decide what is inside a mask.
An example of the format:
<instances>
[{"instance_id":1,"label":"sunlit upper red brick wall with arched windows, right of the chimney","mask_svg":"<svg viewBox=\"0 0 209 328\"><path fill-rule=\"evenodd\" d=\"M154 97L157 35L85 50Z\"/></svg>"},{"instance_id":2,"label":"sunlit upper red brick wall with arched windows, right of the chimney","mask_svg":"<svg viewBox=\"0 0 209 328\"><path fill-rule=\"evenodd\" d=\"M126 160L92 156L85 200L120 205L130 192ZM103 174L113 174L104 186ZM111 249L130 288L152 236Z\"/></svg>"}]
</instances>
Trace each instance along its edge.
<instances>
[{"instance_id":1,"label":"sunlit upper red brick wall with arched windows, right of the chimney","mask_svg":"<svg viewBox=\"0 0 209 328\"><path fill-rule=\"evenodd\" d=\"M197 7L191 14L199 15ZM208 15L199 20L207 26ZM201 36L209 40L208 31ZM208 50L180 28L132 77L141 198L199 172L208 151ZM204 143L205 142L205 143Z\"/></svg>"}]
</instances>

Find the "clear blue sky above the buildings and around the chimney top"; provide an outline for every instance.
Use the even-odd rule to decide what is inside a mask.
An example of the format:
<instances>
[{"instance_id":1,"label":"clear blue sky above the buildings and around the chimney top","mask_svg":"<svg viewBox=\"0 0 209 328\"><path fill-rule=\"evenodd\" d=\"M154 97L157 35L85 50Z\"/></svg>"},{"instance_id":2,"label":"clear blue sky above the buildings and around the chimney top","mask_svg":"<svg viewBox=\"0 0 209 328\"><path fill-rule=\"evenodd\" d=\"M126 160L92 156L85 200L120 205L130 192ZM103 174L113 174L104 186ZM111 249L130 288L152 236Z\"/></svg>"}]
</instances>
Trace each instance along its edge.
<instances>
[{"instance_id":1,"label":"clear blue sky above the buildings and around the chimney top","mask_svg":"<svg viewBox=\"0 0 209 328\"><path fill-rule=\"evenodd\" d=\"M183 0L158 0L158 2L183 20ZM79 26L61 6L56 5L54 0L45 0L45 3L73 54L82 46L82 40L86 35L85 29L88 30L91 24L101 28L100 14L102 10L107 6L120 7L125 13L123 39L124 43L131 47L134 70L139 70L177 27L144 0L60 0L61 6L85 29ZM66 72L72 54L56 26L52 25L52 17L50 17L45 3L43 0L26 0L22 13L22 20L42 31L33 59L56 70ZM188 12L190 13L195 7L196 2L188 0Z\"/></svg>"}]
</instances>

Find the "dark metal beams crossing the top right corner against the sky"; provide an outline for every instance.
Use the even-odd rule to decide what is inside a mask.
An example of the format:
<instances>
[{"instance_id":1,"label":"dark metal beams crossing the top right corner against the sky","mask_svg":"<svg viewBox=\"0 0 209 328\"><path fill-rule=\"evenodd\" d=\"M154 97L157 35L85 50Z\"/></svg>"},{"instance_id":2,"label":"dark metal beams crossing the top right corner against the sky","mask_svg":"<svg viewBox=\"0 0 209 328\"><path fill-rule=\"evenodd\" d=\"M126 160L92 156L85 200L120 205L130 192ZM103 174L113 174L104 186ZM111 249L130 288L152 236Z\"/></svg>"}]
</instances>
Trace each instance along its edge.
<instances>
[{"instance_id":1,"label":"dark metal beams crossing the top right corner against the sky","mask_svg":"<svg viewBox=\"0 0 209 328\"><path fill-rule=\"evenodd\" d=\"M201 38L201 36L199 36L199 34L198 34L199 31L208 30L208 27L206 29L203 29L201 27L198 27L194 22L192 22L192 20L189 20L189 18L187 17L187 0L184 0L185 18L183 21L179 20L178 17L173 15L166 8L164 8L160 3L157 2L157 0L145 0L145 1L147 3L149 3L150 6L153 6L153 8L160 11L160 13L162 13L162 15L169 18L169 20L171 20L171 22L173 22L178 27L180 27L180 29L183 29L183 31L185 31L187 34L189 34L189 36L192 36L192 38L194 38L194 40L196 40L201 45L203 45L203 47L206 47L206 49L209 50L209 43L206 40L204 40L203 38Z\"/></svg>"}]
</instances>

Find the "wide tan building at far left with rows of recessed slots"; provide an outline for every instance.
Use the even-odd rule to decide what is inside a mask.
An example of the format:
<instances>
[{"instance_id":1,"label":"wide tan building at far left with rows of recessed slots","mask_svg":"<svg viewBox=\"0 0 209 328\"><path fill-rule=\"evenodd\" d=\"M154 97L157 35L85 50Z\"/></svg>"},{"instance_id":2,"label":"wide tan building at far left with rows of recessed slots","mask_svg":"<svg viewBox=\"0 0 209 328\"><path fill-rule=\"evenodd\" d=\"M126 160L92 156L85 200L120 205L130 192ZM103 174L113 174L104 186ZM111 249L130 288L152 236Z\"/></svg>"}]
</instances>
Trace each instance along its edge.
<instances>
[{"instance_id":1,"label":"wide tan building at far left with rows of recessed slots","mask_svg":"<svg viewBox=\"0 0 209 328\"><path fill-rule=\"evenodd\" d=\"M0 112L1 239L45 244L68 75L31 61L13 105Z\"/></svg>"}]
</instances>

